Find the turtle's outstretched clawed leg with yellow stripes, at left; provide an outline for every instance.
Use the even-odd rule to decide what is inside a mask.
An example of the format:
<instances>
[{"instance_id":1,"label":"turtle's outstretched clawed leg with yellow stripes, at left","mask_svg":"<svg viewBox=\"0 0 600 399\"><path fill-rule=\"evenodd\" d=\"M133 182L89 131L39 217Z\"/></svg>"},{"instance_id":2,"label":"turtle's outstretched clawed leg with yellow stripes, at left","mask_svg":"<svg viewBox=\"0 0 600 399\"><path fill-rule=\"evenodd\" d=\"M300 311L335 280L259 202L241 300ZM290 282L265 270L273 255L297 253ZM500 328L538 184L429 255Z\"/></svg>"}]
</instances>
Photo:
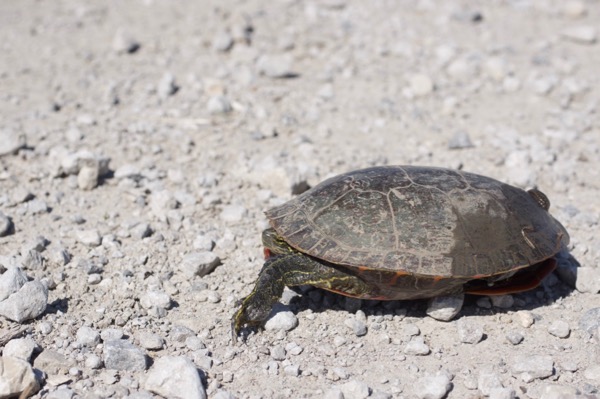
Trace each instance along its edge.
<instances>
[{"instance_id":1,"label":"turtle's outstretched clawed leg with yellow stripes, at left","mask_svg":"<svg viewBox=\"0 0 600 399\"><path fill-rule=\"evenodd\" d=\"M306 284L353 297L368 296L371 291L360 278L309 256L300 253L273 256L265 262L254 289L233 316L234 336L245 325L262 326L285 286Z\"/></svg>"}]
</instances>

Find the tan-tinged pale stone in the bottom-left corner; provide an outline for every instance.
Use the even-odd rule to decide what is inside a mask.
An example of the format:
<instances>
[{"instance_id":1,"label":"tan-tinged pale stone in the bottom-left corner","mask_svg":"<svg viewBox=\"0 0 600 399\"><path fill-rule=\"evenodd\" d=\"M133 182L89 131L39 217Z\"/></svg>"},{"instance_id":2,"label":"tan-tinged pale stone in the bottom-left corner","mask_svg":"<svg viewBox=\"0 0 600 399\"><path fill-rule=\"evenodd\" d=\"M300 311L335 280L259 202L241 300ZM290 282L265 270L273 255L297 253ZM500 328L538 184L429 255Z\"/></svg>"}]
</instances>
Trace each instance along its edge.
<instances>
[{"instance_id":1,"label":"tan-tinged pale stone in the bottom-left corner","mask_svg":"<svg viewBox=\"0 0 600 399\"><path fill-rule=\"evenodd\" d=\"M2 398L28 398L40 390L31 365L16 357L0 357L0 381L2 381L0 384Z\"/></svg>"}]
</instances>

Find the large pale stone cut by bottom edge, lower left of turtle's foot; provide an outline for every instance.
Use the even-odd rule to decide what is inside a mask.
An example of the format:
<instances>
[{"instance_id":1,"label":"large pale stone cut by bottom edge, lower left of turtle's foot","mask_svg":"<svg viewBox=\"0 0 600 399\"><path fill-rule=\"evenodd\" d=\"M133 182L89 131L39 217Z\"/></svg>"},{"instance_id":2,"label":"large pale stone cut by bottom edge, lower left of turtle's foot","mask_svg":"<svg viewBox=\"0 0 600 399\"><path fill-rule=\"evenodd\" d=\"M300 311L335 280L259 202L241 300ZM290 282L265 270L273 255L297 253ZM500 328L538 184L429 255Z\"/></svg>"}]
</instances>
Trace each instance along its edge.
<instances>
[{"instance_id":1,"label":"large pale stone cut by bottom edge, lower left of turtle's foot","mask_svg":"<svg viewBox=\"0 0 600 399\"><path fill-rule=\"evenodd\" d=\"M206 399L206 391L194 363L185 356L156 359L144 388L165 398Z\"/></svg>"}]
</instances>

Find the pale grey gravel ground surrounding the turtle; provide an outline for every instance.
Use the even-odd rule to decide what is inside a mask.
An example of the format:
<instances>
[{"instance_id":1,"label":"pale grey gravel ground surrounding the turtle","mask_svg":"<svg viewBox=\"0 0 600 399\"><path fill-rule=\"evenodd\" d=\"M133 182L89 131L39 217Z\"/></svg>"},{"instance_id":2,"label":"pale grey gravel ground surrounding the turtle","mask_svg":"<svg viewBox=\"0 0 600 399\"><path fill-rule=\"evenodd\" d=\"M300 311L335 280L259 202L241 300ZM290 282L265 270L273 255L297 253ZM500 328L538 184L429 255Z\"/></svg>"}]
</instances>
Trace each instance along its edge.
<instances>
[{"instance_id":1,"label":"pale grey gravel ground surrounding the turtle","mask_svg":"<svg viewBox=\"0 0 600 399\"><path fill-rule=\"evenodd\" d=\"M597 397L599 20L597 0L0 2L0 396ZM232 342L263 212L385 164L539 187L570 253L449 322L288 290Z\"/></svg>"}]
</instances>

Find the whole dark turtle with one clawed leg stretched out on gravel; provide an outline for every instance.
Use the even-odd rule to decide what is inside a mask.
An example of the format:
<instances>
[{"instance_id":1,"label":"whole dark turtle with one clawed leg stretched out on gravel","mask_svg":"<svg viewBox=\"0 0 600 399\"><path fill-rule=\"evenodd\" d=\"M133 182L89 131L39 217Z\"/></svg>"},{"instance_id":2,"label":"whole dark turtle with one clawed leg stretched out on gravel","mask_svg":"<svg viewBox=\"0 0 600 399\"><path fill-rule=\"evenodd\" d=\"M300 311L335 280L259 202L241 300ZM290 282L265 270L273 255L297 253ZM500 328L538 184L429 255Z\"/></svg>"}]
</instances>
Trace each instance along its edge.
<instances>
[{"instance_id":1,"label":"whole dark turtle with one clawed leg stretched out on gravel","mask_svg":"<svg viewBox=\"0 0 600 399\"><path fill-rule=\"evenodd\" d=\"M533 289L569 243L549 208L538 189L445 168L329 178L265 213L265 263L233 333L261 327L285 286L375 300Z\"/></svg>"}]
</instances>

